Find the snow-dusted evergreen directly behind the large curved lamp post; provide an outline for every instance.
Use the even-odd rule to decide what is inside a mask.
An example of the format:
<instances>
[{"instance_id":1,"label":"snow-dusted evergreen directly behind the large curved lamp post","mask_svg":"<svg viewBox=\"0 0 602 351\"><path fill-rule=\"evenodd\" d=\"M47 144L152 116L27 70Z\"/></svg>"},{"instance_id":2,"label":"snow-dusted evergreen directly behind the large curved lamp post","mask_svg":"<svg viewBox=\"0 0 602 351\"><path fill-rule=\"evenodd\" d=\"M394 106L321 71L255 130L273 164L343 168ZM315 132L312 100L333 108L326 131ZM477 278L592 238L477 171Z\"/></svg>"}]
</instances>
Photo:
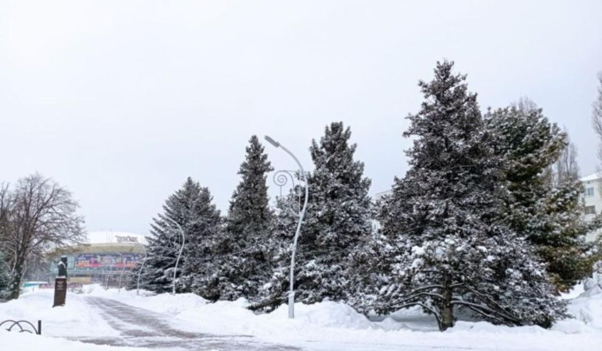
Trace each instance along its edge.
<instances>
[{"instance_id":1,"label":"snow-dusted evergreen directly behind the large curved lamp post","mask_svg":"<svg viewBox=\"0 0 602 351\"><path fill-rule=\"evenodd\" d=\"M359 272L352 270L353 253L368 241L370 223L370 180L364 177L364 163L354 160L356 144L350 144L351 130L333 122L320 141L312 141L314 171L309 174L309 201L297 244L294 288L303 303L348 300L350 282ZM285 253L267 288L276 302L285 301L291 243L297 218L280 211L278 224Z\"/></svg>"}]
</instances>

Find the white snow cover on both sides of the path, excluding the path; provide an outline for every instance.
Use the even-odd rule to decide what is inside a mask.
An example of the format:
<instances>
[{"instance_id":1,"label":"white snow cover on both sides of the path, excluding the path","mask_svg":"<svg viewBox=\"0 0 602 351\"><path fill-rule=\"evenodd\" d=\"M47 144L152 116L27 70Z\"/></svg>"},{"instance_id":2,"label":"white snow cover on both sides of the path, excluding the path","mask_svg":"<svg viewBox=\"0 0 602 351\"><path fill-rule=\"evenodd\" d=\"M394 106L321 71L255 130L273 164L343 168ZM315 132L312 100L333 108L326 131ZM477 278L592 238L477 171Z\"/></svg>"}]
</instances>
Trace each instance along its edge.
<instances>
[{"instance_id":1,"label":"white snow cover on both sides of the path, excluding the path","mask_svg":"<svg viewBox=\"0 0 602 351\"><path fill-rule=\"evenodd\" d=\"M560 321L551 330L535 326L504 327L485 322L459 321L446 332L436 331L432 318L420 311L402 311L371 321L342 303L296 305L296 318L287 306L256 315L246 302L206 303L193 294L136 296L135 291L105 291L87 286L84 294L69 294L67 305L51 308L52 291L25 293L0 304L0 320L42 320L43 336L0 331L0 350L103 350L108 346L82 344L49 337L119 337L87 297L106 297L161 314L174 328L207 334L253 335L256 340L307 350L600 350L602 345L602 289L588 289L571 300L576 319ZM572 297L572 296L569 296ZM43 347L42 347L43 346ZM111 350L123 350L113 348ZM129 350L129 349L128 349ZM141 350L141 349L136 349Z\"/></svg>"}]
</instances>

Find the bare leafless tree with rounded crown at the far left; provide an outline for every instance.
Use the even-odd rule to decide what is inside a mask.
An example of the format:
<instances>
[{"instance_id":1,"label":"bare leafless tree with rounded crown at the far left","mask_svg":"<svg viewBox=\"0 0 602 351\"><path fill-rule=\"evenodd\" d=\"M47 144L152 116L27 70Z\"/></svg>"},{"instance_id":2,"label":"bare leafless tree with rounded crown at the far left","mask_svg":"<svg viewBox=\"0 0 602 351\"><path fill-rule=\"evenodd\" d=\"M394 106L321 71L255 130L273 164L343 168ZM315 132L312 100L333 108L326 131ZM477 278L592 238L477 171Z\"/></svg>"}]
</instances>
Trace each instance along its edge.
<instances>
[{"instance_id":1,"label":"bare leafless tree with rounded crown at the far left","mask_svg":"<svg viewBox=\"0 0 602 351\"><path fill-rule=\"evenodd\" d=\"M84 221L76 214L79 205L72 194L40 174L22 178L13 191L4 192L10 206L1 239L13 261L9 299L17 299L26 260L35 252L82 242Z\"/></svg>"}]
</instances>

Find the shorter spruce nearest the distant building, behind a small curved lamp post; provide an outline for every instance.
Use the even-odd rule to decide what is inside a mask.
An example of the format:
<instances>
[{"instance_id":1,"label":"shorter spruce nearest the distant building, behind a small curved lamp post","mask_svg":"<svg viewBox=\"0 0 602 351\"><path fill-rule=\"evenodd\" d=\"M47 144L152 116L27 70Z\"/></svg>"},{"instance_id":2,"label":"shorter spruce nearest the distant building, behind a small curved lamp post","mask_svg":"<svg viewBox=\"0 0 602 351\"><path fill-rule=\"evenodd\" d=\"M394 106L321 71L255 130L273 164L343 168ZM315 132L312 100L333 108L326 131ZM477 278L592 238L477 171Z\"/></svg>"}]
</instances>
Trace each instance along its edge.
<instances>
[{"instance_id":1,"label":"shorter spruce nearest the distant building, behind a small curved lamp post","mask_svg":"<svg viewBox=\"0 0 602 351\"><path fill-rule=\"evenodd\" d=\"M151 236L147 238L146 245L147 259L140 277L140 287L157 293L165 293L172 289L173 270L182 238L178 227L167 219L169 217L182 227L186 237L176 273L176 279L179 280L176 282L176 289L181 293L189 292L193 289L193 280L198 277L196 273L199 272L194 272L192 266L187 266L187 256L196 258L205 253L197 253L195 250L203 247L214 235L215 227L219 226L219 212L211 204L208 189L202 188L190 177L181 189L167 198L163 211L153 218L151 224ZM190 276L181 276L184 267L188 267L186 273ZM134 283L132 282L132 285Z\"/></svg>"}]
</instances>

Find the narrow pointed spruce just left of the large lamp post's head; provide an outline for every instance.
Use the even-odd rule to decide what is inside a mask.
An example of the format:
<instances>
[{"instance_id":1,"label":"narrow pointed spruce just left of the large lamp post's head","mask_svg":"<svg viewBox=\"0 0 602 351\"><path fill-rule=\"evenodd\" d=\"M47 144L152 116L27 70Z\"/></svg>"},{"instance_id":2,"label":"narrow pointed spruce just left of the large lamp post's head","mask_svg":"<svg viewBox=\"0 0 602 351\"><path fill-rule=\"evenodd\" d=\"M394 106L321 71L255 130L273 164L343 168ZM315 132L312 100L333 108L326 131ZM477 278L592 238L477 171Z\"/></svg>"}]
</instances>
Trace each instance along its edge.
<instances>
[{"instance_id":1,"label":"narrow pointed spruce just left of the large lamp post's head","mask_svg":"<svg viewBox=\"0 0 602 351\"><path fill-rule=\"evenodd\" d=\"M253 135L238 171L242 179L232 194L225 235L217 242L216 254L225 255L216 259L221 300L255 300L270 277L273 213L265 181L272 169L264 147Z\"/></svg>"}]
</instances>

